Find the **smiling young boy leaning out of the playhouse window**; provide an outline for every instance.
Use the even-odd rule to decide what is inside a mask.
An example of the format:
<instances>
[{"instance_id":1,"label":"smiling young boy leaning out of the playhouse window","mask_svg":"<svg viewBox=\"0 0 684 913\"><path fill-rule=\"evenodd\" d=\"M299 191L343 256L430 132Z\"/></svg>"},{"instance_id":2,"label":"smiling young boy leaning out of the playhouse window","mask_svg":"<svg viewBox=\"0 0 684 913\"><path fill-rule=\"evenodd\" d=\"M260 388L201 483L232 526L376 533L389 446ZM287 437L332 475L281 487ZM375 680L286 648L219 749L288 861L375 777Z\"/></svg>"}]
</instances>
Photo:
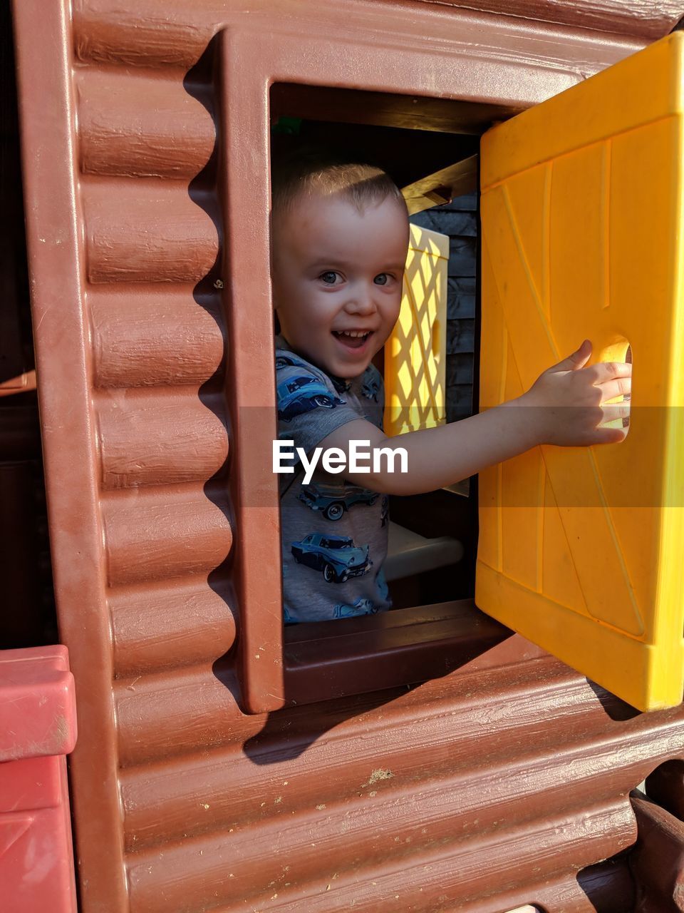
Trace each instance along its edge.
<instances>
[{"instance_id":1,"label":"smiling young boy leaning out of the playhouse window","mask_svg":"<svg viewBox=\"0 0 684 913\"><path fill-rule=\"evenodd\" d=\"M539 444L621 441L625 431L600 425L627 407L601 404L629 393L631 365L584 367L584 341L515 400L387 438L371 359L399 317L409 243L399 189L371 165L306 158L276 169L273 183L278 436L307 457L316 447L348 456L350 441L408 455L406 472L316 469L303 485L300 463L280 477L285 622L375 613L390 606L387 496L432 491Z\"/></svg>"}]
</instances>

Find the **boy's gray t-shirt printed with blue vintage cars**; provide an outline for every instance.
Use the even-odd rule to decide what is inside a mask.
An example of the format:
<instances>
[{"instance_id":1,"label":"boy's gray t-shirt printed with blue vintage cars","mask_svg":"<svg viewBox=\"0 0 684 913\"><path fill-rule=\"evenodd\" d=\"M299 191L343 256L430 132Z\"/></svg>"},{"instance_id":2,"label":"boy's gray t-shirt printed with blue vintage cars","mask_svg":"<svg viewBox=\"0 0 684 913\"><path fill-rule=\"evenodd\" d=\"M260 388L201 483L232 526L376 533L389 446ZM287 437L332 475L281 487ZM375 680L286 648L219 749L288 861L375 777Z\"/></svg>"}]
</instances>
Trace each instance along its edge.
<instances>
[{"instance_id":1,"label":"boy's gray t-shirt printed with blue vintage cars","mask_svg":"<svg viewBox=\"0 0 684 913\"><path fill-rule=\"evenodd\" d=\"M382 378L373 365L351 382L329 377L275 340L278 437L307 457L341 425L365 418L382 427ZM296 453L296 451L295 451ZM285 624L326 621L389 609L386 495L316 468L308 485L280 476Z\"/></svg>"}]
</instances>

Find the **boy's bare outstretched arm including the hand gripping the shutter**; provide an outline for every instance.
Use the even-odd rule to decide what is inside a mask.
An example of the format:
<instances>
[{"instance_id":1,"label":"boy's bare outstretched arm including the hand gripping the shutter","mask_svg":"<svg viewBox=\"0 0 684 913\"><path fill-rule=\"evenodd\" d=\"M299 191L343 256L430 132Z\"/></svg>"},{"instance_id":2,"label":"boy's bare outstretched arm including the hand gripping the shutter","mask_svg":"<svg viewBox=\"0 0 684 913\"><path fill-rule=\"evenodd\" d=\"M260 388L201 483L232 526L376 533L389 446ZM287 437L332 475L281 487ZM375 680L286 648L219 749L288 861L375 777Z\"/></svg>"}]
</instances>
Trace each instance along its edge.
<instances>
[{"instance_id":1,"label":"boy's bare outstretched arm including the hand gripping the shutter","mask_svg":"<svg viewBox=\"0 0 684 913\"><path fill-rule=\"evenodd\" d=\"M563 362L545 371L522 396L479 415L450 425L386 437L361 419L328 435L319 446L338 447L348 454L349 441L369 441L371 448L403 447L408 471L389 472L383 457L378 472L349 472L355 485L383 494L413 495L433 491L467 478L486 467L517 456L538 444L589 446L624 439L621 428L600 427L608 419L627 415L627 404L604 405L629 394L631 365L604 362L584 368L591 344L583 342ZM347 458L348 465L348 458Z\"/></svg>"}]
</instances>

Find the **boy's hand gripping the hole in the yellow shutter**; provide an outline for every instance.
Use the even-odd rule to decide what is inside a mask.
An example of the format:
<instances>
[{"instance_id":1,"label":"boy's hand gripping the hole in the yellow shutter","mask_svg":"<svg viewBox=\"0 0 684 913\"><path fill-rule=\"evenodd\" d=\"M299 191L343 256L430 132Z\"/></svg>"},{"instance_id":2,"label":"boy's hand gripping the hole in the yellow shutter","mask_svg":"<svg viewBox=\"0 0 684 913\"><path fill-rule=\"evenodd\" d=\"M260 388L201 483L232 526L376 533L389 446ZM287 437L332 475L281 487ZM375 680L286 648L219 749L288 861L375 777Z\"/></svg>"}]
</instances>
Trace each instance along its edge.
<instances>
[{"instance_id":1,"label":"boy's hand gripping the hole in the yellow shutter","mask_svg":"<svg viewBox=\"0 0 684 913\"><path fill-rule=\"evenodd\" d=\"M631 392L631 364L599 362L586 368L591 342L582 345L562 362L547 368L533 386L512 404L531 408L539 444L589 446L615 444L627 436L627 428L601 427L629 414L628 403L606 404Z\"/></svg>"}]
</instances>

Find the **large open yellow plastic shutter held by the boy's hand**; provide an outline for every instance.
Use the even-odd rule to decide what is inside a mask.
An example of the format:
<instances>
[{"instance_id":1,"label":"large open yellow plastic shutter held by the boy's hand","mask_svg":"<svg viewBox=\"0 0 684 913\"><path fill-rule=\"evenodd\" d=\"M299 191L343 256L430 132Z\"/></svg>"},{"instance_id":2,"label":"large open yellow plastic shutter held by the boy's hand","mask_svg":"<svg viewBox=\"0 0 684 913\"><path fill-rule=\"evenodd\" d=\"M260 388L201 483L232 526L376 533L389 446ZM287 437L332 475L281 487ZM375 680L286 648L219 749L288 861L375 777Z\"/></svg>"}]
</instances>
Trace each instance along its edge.
<instances>
[{"instance_id":1,"label":"large open yellow plastic shutter held by the boy's hand","mask_svg":"<svg viewBox=\"0 0 684 913\"><path fill-rule=\"evenodd\" d=\"M476 602L640 709L684 686L683 47L482 138L482 408L585 337L634 363L625 442L481 473Z\"/></svg>"}]
</instances>

